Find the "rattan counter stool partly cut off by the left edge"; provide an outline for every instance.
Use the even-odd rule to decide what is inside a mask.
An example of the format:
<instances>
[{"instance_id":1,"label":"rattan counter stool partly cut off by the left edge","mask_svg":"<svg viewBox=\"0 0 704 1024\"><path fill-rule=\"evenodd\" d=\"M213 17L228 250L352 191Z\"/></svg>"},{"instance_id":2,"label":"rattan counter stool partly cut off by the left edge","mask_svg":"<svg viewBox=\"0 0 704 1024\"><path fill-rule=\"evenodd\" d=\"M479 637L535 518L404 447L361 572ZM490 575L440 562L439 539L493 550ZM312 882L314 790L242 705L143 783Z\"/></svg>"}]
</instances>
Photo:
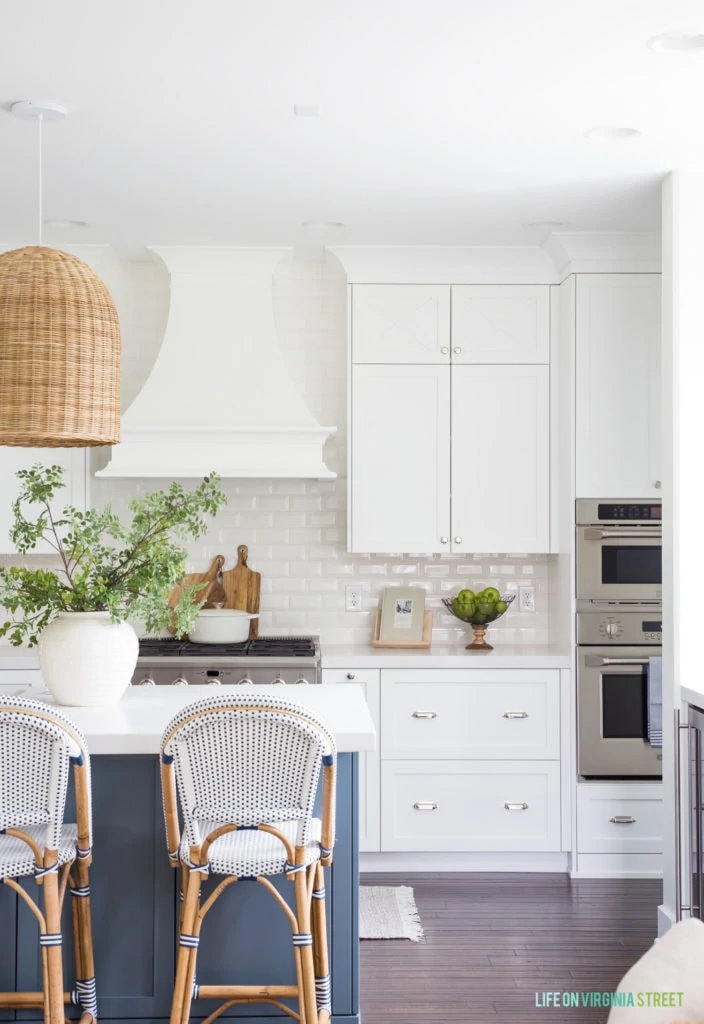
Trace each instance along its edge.
<instances>
[{"instance_id":1,"label":"rattan counter stool partly cut off by the left edge","mask_svg":"<svg viewBox=\"0 0 704 1024\"><path fill-rule=\"evenodd\" d=\"M69 771L76 824L64 824ZM83 736L60 712L39 700L0 697L0 880L39 923L41 992L0 992L0 1007L40 1008L46 1024L63 1024L63 1006L81 1007L82 1024L97 1019L89 865L92 859L90 761ZM43 909L19 884L33 877ZM63 991L61 907L71 889L76 988Z\"/></svg>"}]
</instances>

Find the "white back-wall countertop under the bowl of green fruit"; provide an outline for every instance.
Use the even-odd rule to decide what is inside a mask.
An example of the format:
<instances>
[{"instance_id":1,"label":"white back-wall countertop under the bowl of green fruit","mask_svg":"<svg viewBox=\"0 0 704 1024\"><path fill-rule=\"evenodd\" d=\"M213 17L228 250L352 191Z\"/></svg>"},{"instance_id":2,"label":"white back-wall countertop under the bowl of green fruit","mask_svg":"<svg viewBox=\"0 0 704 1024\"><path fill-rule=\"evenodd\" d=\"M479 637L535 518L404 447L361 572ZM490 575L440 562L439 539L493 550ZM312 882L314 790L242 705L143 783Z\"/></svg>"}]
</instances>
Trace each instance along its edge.
<instances>
[{"instance_id":1,"label":"white back-wall countertop under the bowl of green fruit","mask_svg":"<svg viewBox=\"0 0 704 1024\"><path fill-rule=\"evenodd\" d=\"M433 644L429 650L323 644L323 669L569 669L565 647L496 644L493 650L466 650L464 644Z\"/></svg>"}]
</instances>

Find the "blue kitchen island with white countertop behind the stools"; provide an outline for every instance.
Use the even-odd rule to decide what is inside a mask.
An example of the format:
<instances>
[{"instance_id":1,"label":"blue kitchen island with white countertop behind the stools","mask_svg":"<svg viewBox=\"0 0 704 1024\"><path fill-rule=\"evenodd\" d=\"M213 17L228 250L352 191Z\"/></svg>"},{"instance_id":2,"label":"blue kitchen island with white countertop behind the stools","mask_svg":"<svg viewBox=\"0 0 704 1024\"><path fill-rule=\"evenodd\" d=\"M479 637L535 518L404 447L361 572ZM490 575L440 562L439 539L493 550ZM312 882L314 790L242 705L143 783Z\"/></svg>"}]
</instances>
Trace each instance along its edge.
<instances>
[{"instance_id":1,"label":"blue kitchen island with white countertop behind the stools","mask_svg":"<svg viewBox=\"0 0 704 1024\"><path fill-rule=\"evenodd\" d=\"M84 732L91 751L91 906L102 1024L165 1024L169 1019L181 876L167 857L158 750L172 715L212 693L205 686L131 688L116 708L63 709ZM359 1021L357 751L373 748L373 726L358 686L307 686L295 693L287 690L285 695L321 715L338 741L337 839L325 886L332 1020L355 1024ZM72 820L72 813L70 797L67 820ZM293 900L292 883L283 879L278 888ZM65 916L65 987L71 988L68 912ZM40 978L36 922L24 906L17 907L14 894L0 886L0 989L36 990ZM208 914L196 980L201 984L295 982L290 926L256 882L230 886ZM191 1020L204 1019L216 1006L216 1001L195 1001ZM68 1008L68 1016L72 1009L76 1008ZM251 1024L289 1020L265 1004L235 1007L219 1019L235 1017ZM0 1011L0 1020L12 1019L11 1011ZM41 1020L41 1013L18 1012L17 1019Z\"/></svg>"}]
</instances>

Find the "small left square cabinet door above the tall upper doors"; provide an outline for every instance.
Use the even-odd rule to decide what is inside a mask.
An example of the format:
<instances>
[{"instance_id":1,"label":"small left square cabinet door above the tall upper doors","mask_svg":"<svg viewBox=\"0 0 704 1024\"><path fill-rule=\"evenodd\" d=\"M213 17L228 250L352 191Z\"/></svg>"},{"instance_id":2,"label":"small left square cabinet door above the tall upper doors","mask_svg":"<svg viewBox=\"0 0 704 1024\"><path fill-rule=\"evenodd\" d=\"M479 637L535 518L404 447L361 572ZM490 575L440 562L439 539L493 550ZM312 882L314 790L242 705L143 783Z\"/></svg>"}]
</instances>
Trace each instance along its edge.
<instances>
[{"instance_id":1,"label":"small left square cabinet door above the tall upper doors","mask_svg":"<svg viewBox=\"0 0 704 1024\"><path fill-rule=\"evenodd\" d=\"M353 362L449 362L449 285L353 285Z\"/></svg>"}]
</instances>

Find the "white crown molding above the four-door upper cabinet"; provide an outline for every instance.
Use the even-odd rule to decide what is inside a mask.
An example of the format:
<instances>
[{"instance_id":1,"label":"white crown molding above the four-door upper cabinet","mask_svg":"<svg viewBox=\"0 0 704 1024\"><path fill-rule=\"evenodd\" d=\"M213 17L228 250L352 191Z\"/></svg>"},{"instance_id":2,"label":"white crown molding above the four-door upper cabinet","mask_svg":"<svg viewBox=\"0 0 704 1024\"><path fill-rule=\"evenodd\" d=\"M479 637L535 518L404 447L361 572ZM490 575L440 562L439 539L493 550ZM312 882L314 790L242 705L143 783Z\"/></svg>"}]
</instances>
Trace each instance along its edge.
<instances>
[{"instance_id":1,"label":"white crown molding above the four-door upper cabinet","mask_svg":"<svg viewBox=\"0 0 704 1024\"><path fill-rule=\"evenodd\" d=\"M539 246L331 246L348 283L551 285L555 264Z\"/></svg>"}]
</instances>

